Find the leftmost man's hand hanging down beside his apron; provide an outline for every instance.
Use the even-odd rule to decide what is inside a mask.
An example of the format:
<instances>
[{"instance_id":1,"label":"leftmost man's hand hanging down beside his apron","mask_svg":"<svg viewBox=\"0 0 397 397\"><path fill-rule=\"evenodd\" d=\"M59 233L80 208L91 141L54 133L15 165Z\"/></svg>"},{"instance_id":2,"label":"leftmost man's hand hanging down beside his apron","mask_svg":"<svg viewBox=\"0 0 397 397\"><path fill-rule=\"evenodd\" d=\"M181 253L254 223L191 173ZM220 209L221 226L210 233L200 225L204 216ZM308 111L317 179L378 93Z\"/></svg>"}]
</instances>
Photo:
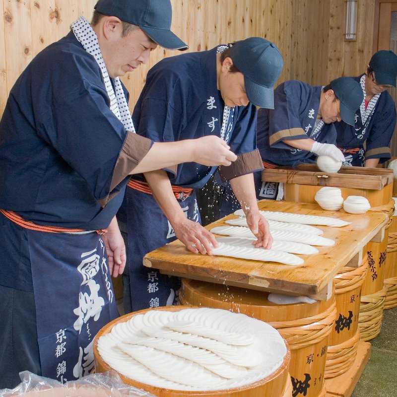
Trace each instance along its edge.
<instances>
[{"instance_id":1,"label":"leftmost man's hand hanging down beside his apron","mask_svg":"<svg viewBox=\"0 0 397 397\"><path fill-rule=\"evenodd\" d=\"M120 233L116 217L108 227L107 233L102 235L105 244L106 253L108 254L109 273L117 277L123 273L126 266L126 246Z\"/></svg>"}]
</instances>

